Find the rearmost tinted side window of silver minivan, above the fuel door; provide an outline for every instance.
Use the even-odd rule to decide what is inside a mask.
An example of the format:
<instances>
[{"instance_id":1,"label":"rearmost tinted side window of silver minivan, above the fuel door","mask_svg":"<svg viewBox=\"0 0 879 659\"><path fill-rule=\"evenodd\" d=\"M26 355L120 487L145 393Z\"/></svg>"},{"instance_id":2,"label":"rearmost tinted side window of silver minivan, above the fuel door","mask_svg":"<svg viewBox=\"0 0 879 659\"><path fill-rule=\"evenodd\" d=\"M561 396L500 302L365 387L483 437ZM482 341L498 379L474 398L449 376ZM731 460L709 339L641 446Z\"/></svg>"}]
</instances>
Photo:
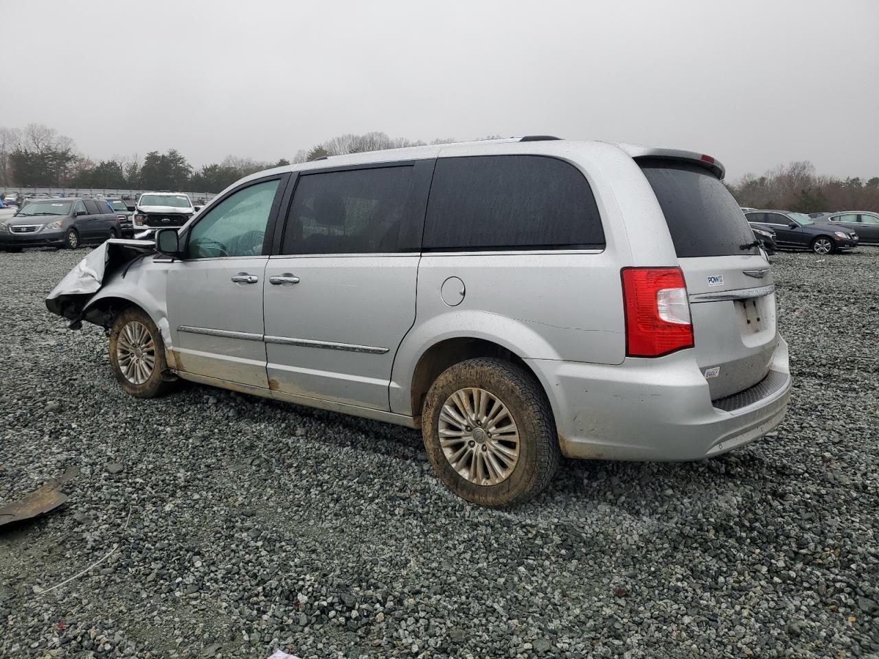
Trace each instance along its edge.
<instances>
[{"instance_id":1,"label":"rearmost tinted side window of silver minivan, above the fuel door","mask_svg":"<svg viewBox=\"0 0 879 659\"><path fill-rule=\"evenodd\" d=\"M425 250L604 247L592 190L577 168L543 156L439 158Z\"/></svg>"}]
</instances>

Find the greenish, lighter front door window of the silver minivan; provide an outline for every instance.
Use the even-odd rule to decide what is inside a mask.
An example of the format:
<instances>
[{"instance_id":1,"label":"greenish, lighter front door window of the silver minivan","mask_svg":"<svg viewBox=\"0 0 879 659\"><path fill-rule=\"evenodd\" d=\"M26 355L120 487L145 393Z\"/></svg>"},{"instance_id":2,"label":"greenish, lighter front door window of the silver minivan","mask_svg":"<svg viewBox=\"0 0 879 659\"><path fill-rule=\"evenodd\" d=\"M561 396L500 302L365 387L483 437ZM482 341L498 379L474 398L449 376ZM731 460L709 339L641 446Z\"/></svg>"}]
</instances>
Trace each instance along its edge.
<instances>
[{"instance_id":1,"label":"greenish, lighter front door window of the silver minivan","mask_svg":"<svg viewBox=\"0 0 879 659\"><path fill-rule=\"evenodd\" d=\"M189 235L188 258L257 257L280 181L233 192L201 216Z\"/></svg>"}]
</instances>

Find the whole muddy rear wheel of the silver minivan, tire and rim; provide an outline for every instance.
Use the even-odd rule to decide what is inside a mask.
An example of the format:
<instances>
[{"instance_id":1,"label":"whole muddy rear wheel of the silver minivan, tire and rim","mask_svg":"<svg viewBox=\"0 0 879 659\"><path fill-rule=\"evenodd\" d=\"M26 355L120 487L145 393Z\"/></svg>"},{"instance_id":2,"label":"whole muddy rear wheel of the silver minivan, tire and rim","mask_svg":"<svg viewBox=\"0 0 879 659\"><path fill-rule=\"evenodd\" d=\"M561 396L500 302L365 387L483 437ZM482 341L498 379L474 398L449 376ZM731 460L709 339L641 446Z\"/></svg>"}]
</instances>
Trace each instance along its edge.
<instances>
[{"instance_id":1,"label":"whole muddy rear wheel of the silver minivan, tire and rim","mask_svg":"<svg viewBox=\"0 0 879 659\"><path fill-rule=\"evenodd\" d=\"M494 508L539 494L561 457L540 383L502 359L468 359L440 373L425 397L422 433L440 480Z\"/></svg>"}]
</instances>

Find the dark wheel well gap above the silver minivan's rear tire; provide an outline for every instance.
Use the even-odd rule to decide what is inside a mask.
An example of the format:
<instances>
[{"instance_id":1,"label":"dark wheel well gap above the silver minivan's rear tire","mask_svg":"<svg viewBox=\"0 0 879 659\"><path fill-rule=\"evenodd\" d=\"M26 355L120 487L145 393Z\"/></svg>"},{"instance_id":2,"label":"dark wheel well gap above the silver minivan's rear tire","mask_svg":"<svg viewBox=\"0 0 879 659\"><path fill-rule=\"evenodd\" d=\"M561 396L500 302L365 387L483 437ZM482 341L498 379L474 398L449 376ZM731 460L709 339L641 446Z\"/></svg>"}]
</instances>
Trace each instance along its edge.
<instances>
[{"instance_id":1,"label":"dark wheel well gap above the silver minivan's rear tire","mask_svg":"<svg viewBox=\"0 0 879 659\"><path fill-rule=\"evenodd\" d=\"M481 338L449 338L445 341L440 341L439 344L432 345L418 359L415 373L412 374L412 386L410 389L412 416L420 419L427 390L431 388L433 380L439 377L439 373L465 359L476 357L494 357L518 364L528 373L531 373L538 385L541 385L541 381L534 374L531 367L525 363L525 360L503 345L498 345Z\"/></svg>"}]
</instances>

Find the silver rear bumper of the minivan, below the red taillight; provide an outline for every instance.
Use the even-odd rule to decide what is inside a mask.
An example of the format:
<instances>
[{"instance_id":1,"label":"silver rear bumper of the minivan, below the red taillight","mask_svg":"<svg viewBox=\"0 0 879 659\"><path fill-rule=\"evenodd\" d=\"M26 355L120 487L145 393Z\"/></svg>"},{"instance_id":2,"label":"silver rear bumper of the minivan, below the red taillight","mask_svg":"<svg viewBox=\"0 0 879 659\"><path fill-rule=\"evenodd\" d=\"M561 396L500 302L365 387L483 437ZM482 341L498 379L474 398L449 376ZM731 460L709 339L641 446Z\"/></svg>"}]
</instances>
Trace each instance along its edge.
<instances>
[{"instance_id":1,"label":"silver rear bumper of the minivan, below the red taillight","mask_svg":"<svg viewBox=\"0 0 879 659\"><path fill-rule=\"evenodd\" d=\"M779 337L772 386L742 407L711 401L693 351L619 366L527 359L548 393L562 453L606 460L701 460L760 438L788 409L788 344ZM718 403L720 404L720 403ZM730 408L735 406L724 405Z\"/></svg>"}]
</instances>

